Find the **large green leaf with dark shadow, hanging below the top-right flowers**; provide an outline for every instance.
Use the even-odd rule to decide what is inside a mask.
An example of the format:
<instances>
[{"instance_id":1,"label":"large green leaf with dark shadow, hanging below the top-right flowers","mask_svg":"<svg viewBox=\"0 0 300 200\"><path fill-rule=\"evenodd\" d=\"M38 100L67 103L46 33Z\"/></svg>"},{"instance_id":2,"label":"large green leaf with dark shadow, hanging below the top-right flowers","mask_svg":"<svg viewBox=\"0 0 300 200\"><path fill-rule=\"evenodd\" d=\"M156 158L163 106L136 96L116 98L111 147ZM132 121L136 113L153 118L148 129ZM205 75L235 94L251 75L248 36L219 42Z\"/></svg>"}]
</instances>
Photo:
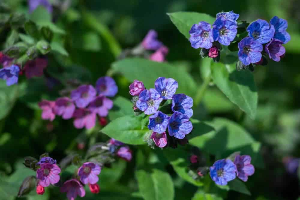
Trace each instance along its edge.
<instances>
[{"instance_id":1,"label":"large green leaf with dark shadow, hanging below the top-right flowers","mask_svg":"<svg viewBox=\"0 0 300 200\"><path fill-rule=\"evenodd\" d=\"M254 119L258 95L252 73L237 71L235 64L223 63L213 63L211 73L214 83L226 97Z\"/></svg>"}]
</instances>

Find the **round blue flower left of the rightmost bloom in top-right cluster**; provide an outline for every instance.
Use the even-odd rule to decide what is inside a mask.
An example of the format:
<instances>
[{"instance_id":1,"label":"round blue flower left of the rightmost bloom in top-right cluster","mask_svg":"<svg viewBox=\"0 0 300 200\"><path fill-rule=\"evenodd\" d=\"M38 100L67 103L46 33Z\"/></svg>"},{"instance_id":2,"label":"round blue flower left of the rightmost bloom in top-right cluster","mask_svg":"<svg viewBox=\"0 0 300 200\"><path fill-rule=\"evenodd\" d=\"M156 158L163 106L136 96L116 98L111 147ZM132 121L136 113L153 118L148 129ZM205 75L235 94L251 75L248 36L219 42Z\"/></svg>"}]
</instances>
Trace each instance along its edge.
<instances>
[{"instance_id":1,"label":"round blue flower left of the rightmost bloom in top-right cluster","mask_svg":"<svg viewBox=\"0 0 300 200\"><path fill-rule=\"evenodd\" d=\"M275 28L272 25L270 27L266 20L257 19L248 26L247 31L249 37L252 37L261 44L265 44L273 38Z\"/></svg>"}]
</instances>

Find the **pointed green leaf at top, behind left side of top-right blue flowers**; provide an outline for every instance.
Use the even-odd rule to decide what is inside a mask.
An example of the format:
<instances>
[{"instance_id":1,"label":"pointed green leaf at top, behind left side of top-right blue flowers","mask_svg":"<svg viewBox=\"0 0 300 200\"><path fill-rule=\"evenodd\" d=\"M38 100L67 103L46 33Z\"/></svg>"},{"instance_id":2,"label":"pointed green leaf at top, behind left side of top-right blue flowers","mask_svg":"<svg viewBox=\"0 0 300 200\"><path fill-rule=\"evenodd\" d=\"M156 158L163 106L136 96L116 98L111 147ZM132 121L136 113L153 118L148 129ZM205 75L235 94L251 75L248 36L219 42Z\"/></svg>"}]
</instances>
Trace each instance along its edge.
<instances>
[{"instance_id":1,"label":"pointed green leaf at top, behind left side of top-right blue flowers","mask_svg":"<svg viewBox=\"0 0 300 200\"><path fill-rule=\"evenodd\" d=\"M196 12L176 12L167 13L167 15L169 15L173 24L187 39L190 38L189 31L193 24L198 24L201 21L213 24L216 20L214 17L208 14Z\"/></svg>"}]
</instances>

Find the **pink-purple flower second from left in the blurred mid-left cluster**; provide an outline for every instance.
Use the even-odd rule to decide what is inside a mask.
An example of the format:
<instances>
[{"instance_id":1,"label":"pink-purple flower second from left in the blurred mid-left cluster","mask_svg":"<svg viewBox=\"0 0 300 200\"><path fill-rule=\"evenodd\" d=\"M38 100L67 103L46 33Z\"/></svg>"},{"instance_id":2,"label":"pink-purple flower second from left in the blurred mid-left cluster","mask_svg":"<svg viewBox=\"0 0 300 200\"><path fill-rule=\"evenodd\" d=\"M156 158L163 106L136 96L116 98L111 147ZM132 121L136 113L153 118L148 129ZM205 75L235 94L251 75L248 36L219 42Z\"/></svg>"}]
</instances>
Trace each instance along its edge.
<instances>
[{"instance_id":1,"label":"pink-purple flower second from left in the blurred mid-left cluster","mask_svg":"<svg viewBox=\"0 0 300 200\"><path fill-rule=\"evenodd\" d=\"M75 105L68 97L61 97L55 101L54 111L63 119L70 119L75 111Z\"/></svg>"}]
</instances>

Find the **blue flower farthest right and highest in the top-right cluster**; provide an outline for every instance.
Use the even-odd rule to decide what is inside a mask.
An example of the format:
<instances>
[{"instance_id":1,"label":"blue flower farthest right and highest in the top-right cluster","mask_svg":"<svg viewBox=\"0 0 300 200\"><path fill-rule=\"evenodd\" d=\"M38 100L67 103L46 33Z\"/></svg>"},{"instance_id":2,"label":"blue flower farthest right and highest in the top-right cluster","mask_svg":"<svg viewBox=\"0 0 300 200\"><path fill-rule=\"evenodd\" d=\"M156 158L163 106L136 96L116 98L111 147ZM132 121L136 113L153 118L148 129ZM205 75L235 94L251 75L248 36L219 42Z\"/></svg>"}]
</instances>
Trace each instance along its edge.
<instances>
[{"instance_id":1,"label":"blue flower farthest right and highest in the top-right cluster","mask_svg":"<svg viewBox=\"0 0 300 200\"><path fill-rule=\"evenodd\" d=\"M287 21L285 19L278 18L277 16L274 16L270 20L270 24L274 26L275 33L274 33L274 39L278 39L282 41L284 44L289 42L291 40L291 36L288 32L286 32L287 28Z\"/></svg>"}]
</instances>

